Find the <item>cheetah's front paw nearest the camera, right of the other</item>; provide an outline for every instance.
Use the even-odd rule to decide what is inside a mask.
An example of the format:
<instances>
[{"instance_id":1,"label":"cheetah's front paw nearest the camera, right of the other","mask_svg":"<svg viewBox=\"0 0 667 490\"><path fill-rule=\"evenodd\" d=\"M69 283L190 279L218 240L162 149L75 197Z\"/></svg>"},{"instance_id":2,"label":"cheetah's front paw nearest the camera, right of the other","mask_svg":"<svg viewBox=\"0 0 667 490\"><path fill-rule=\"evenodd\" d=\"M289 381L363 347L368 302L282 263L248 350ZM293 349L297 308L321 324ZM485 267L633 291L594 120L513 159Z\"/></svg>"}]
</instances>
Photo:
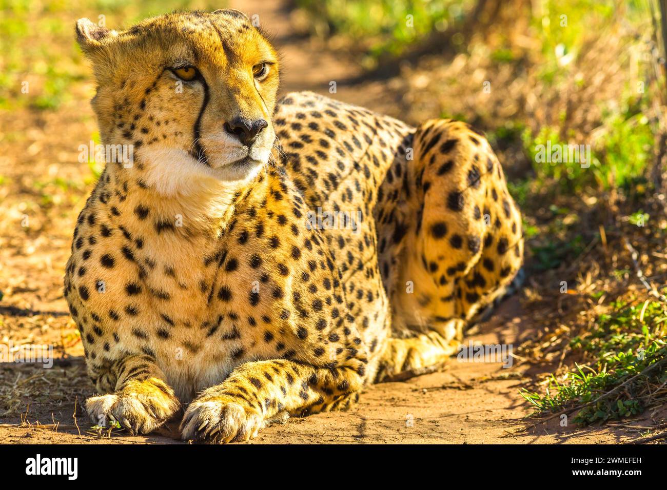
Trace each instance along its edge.
<instances>
[{"instance_id":1,"label":"cheetah's front paw nearest the camera, right of the other","mask_svg":"<svg viewBox=\"0 0 667 490\"><path fill-rule=\"evenodd\" d=\"M215 397L195 400L187 407L181 435L186 441L229 443L249 441L263 427L265 421L257 410L231 397Z\"/></svg>"}]
</instances>

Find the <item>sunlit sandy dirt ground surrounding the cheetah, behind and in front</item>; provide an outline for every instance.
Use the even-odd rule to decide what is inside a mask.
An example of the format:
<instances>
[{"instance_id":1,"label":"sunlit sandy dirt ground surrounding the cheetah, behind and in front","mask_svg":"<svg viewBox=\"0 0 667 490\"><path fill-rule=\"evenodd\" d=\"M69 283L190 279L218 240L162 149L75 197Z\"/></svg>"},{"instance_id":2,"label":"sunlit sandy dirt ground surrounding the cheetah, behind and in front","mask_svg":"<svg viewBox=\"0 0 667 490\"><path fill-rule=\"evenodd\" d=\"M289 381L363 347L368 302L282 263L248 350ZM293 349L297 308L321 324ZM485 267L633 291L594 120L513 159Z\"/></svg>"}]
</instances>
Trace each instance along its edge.
<instances>
[{"instance_id":1,"label":"sunlit sandy dirt ground surrounding the cheetah, behind and in front","mask_svg":"<svg viewBox=\"0 0 667 490\"><path fill-rule=\"evenodd\" d=\"M321 54L316 41L291 33L280 1L231 1L248 13L259 13L262 25L275 34L283 52L285 91L308 89L328 93L329 81L343 81L360 69L331 54ZM391 81L348 86L338 83L336 98L400 117L392 110ZM329 94L330 95L330 94ZM56 346L55 365L0 364L0 393L5 415L0 417L0 443L178 443L178 421L158 433L131 437L117 431L100 438L89 433L90 423L81 403L93 395L85 376L83 348L75 337L62 295L62 277L69 255L75 217L87 189L71 202L57 202L53 210L33 210L26 201L37 199L33 185L43 175L75 178L75 145L85 141L95 121L87 93L79 103L64 105L52 115L11 120L3 116L3 130L25 131L20 152L0 143L3 173L16 184L0 187L0 212L9 217L0 227L0 341L46 343ZM66 133L60 121L70 121ZM45 134L58 135L51 139ZM70 140L70 141L65 141ZM11 156L11 155L22 155ZM53 165L57 163L57 169ZM85 164L84 164L85 166ZM69 211L58 212L59 209ZM17 233L23 215L29 229ZM540 318L522 308L518 296L505 301L492 317L474 327L469 339L484 344L519 345L536 335ZM510 368L496 363L463 363L452 359L438 373L401 383L369 387L360 403L348 412L290 419L260 431L252 443L619 443L645 434L664 419L666 411L647 412L639 419L601 427L560 426L555 417L531 427L531 409L520 389L549 371L514 358ZM0 410L0 414L3 411Z\"/></svg>"}]
</instances>

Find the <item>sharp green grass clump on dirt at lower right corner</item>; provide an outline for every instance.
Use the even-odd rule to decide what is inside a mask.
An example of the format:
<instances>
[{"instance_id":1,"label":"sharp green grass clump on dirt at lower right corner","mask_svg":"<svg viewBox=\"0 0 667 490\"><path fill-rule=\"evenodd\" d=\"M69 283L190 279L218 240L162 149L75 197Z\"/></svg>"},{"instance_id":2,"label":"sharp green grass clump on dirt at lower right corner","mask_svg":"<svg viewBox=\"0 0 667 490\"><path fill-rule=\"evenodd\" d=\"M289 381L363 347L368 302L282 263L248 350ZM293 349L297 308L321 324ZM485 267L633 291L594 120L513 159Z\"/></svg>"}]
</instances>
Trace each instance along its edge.
<instances>
[{"instance_id":1,"label":"sharp green grass clump on dirt at lower right corner","mask_svg":"<svg viewBox=\"0 0 667 490\"><path fill-rule=\"evenodd\" d=\"M650 392L667 381L667 311L656 301L612 306L590 332L570 341L574 354L585 353L590 362L576 365L560 379L552 375L546 393L522 391L537 413L595 402L578 409L574 417L578 423L593 423L637 415L656 402Z\"/></svg>"}]
</instances>

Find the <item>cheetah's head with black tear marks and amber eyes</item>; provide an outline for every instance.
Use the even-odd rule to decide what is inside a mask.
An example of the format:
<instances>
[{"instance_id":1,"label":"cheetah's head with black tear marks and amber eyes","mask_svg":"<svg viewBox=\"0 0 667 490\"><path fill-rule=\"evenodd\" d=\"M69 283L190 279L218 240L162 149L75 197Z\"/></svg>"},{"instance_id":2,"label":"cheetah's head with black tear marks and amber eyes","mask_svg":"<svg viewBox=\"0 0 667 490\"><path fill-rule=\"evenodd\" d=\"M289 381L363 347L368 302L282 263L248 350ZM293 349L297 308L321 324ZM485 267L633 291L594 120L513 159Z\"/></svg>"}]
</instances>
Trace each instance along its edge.
<instances>
[{"instance_id":1,"label":"cheetah's head with black tear marks and amber eyes","mask_svg":"<svg viewBox=\"0 0 667 490\"><path fill-rule=\"evenodd\" d=\"M277 54L244 14L174 13L126 31L81 19L77 39L103 142L133 143L149 183L247 179L269 159Z\"/></svg>"}]
</instances>

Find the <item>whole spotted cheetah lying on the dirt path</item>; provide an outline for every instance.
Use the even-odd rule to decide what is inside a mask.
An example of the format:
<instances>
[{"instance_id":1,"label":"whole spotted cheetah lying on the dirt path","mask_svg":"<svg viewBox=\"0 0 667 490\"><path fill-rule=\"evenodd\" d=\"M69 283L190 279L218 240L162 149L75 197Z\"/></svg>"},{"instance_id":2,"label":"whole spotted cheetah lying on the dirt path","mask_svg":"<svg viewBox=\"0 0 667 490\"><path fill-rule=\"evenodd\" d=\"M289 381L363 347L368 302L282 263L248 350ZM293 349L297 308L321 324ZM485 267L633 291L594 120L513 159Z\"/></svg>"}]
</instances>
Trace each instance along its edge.
<instances>
[{"instance_id":1,"label":"whole spotted cheetah lying on the dirt path","mask_svg":"<svg viewBox=\"0 0 667 490\"><path fill-rule=\"evenodd\" d=\"M315 93L236 10L76 24L107 161L64 294L96 423L247 441L437 369L522 264L484 136ZM124 155L124 153L123 153Z\"/></svg>"}]
</instances>

